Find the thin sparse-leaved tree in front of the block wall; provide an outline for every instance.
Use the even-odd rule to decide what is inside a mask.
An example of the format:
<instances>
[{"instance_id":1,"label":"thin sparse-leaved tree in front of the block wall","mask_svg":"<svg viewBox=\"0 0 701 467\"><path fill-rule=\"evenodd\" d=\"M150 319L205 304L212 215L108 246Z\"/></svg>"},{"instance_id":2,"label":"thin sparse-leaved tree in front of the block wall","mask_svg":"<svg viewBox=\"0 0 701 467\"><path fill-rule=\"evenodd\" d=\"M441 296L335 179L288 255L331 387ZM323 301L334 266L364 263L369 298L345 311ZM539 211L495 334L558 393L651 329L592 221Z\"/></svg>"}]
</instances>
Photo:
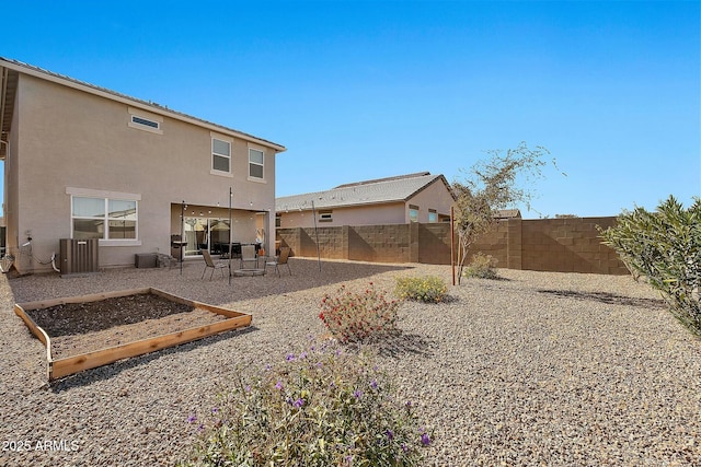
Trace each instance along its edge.
<instances>
[{"instance_id":1,"label":"thin sparse-leaved tree in front of the block wall","mask_svg":"<svg viewBox=\"0 0 701 467\"><path fill-rule=\"evenodd\" d=\"M530 209L533 182L542 178L543 159L550 151L543 147L529 149L526 142L506 152L487 151L489 159L475 163L467 176L452 183L457 197L455 225L459 235L458 283L470 246L496 224L502 209L525 203ZM554 165L555 161L552 160ZM563 174L564 175L564 174Z\"/></svg>"}]
</instances>

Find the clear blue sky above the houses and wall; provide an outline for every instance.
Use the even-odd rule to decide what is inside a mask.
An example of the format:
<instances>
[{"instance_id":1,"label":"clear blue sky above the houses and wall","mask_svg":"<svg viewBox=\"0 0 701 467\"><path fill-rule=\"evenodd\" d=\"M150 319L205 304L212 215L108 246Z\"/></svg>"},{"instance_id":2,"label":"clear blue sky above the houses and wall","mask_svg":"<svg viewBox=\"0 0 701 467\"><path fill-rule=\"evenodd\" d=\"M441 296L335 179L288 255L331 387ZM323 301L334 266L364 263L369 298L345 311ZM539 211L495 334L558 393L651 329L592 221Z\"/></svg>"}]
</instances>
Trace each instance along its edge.
<instances>
[{"instance_id":1,"label":"clear blue sky above the houses and wall","mask_svg":"<svg viewBox=\"0 0 701 467\"><path fill-rule=\"evenodd\" d=\"M699 1L13 1L0 56L287 147L277 196L520 141L536 211L701 195Z\"/></svg>"}]
</instances>

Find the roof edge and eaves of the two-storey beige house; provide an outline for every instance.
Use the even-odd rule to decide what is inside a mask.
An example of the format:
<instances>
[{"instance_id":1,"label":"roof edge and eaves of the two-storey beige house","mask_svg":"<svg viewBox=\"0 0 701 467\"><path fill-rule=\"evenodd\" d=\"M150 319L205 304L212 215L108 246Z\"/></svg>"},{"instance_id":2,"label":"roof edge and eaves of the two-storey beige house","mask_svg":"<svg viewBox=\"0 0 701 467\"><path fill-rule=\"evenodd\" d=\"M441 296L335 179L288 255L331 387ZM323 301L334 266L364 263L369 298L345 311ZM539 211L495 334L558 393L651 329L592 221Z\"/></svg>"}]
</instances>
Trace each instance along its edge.
<instances>
[{"instance_id":1,"label":"roof edge and eaves of the two-storey beige house","mask_svg":"<svg viewBox=\"0 0 701 467\"><path fill-rule=\"evenodd\" d=\"M186 121L267 148L272 148L277 152L286 151L286 148L284 145L274 143L263 138L254 137L253 135L249 135L243 131L239 131L218 124L214 124L211 121L203 120L202 118L193 117L187 114L173 110L171 108L168 108L166 106L159 105L153 102L130 97L126 94L120 94L118 92L111 91L105 87L100 87L84 81L79 81L64 74L55 73L53 71L35 67L33 65L24 63L22 61L0 57L0 131L2 131L3 133L10 132L11 129L10 125L12 122L12 112L14 109L14 96L19 73L25 73L47 81L59 83L68 87L78 89L90 94L106 97L112 101L122 102L136 108L141 108L143 110L148 110L158 115ZM2 148L0 148L0 150Z\"/></svg>"}]
</instances>

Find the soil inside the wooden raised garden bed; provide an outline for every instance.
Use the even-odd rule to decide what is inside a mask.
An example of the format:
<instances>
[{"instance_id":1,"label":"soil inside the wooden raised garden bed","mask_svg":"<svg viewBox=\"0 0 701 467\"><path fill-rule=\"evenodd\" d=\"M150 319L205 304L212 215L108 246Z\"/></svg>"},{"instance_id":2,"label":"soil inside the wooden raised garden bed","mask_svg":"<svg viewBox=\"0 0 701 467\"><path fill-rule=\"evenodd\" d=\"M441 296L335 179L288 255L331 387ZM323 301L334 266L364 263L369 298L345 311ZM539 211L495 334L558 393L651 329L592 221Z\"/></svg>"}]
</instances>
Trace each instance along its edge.
<instances>
[{"instance_id":1,"label":"soil inside the wooden raised garden bed","mask_svg":"<svg viewBox=\"0 0 701 467\"><path fill-rule=\"evenodd\" d=\"M51 338L54 359L205 326L226 316L153 294L67 303L28 311Z\"/></svg>"}]
</instances>

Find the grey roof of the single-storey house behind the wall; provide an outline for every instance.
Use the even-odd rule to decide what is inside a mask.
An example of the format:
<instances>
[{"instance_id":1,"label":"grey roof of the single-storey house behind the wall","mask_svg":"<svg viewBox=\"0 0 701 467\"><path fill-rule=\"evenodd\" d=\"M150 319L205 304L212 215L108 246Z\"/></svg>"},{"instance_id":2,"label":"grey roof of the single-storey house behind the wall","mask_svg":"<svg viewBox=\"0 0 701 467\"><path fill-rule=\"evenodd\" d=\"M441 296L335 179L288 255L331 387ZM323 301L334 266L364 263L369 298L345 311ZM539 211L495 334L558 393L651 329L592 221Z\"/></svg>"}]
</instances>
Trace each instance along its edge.
<instances>
[{"instance_id":1,"label":"grey roof of the single-storey house behind the wall","mask_svg":"<svg viewBox=\"0 0 701 467\"><path fill-rule=\"evenodd\" d=\"M275 199L276 211L329 209L363 205L407 201L414 195L434 183L443 183L452 196L450 185L443 175L430 175L428 172L401 175L388 178L356 182L338 185L326 191L306 192Z\"/></svg>"}]
</instances>

